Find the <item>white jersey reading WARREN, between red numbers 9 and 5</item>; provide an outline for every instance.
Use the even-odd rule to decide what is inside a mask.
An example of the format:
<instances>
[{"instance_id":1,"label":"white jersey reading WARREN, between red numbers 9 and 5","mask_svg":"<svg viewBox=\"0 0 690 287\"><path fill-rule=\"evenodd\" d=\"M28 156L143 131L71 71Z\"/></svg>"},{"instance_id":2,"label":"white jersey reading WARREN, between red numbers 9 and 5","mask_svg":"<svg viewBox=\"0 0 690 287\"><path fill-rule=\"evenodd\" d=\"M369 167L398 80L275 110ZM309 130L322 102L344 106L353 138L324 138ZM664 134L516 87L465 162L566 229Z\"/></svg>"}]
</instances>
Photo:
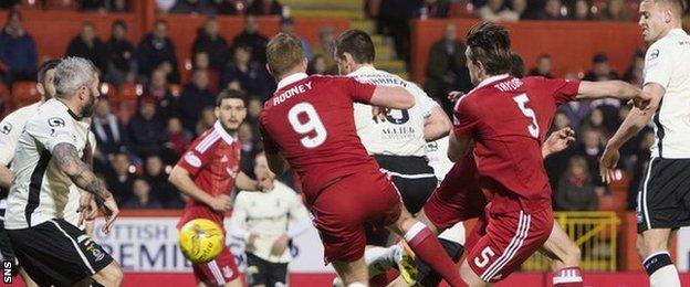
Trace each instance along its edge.
<instances>
[{"instance_id":1,"label":"white jersey reading WARREN, between red numbers 9 and 5","mask_svg":"<svg viewBox=\"0 0 690 287\"><path fill-rule=\"evenodd\" d=\"M415 96L415 106L390 109L386 120L378 123L372 118L372 106L355 103L355 126L367 151L370 155L424 157L427 145L424 138L425 119L438 104L415 83L373 66L363 66L347 76L363 83L402 87Z\"/></svg>"}]
</instances>

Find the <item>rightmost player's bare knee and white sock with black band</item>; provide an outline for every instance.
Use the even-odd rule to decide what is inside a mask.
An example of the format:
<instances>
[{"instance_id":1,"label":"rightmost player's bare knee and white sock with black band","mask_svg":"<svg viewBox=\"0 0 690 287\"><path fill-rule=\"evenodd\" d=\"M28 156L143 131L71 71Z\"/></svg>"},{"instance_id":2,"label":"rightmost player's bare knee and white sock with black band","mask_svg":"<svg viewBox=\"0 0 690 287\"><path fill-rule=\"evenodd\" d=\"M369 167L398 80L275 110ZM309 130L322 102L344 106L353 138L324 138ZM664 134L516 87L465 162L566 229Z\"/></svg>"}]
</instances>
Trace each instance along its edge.
<instances>
[{"instance_id":1,"label":"rightmost player's bare knee and white sock with black band","mask_svg":"<svg viewBox=\"0 0 690 287\"><path fill-rule=\"evenodd\" d=\"M651 287L680 287L678 269L669 254L670 228L652 228L637 236L637 249Z\"/></svg>"}]
</instances>

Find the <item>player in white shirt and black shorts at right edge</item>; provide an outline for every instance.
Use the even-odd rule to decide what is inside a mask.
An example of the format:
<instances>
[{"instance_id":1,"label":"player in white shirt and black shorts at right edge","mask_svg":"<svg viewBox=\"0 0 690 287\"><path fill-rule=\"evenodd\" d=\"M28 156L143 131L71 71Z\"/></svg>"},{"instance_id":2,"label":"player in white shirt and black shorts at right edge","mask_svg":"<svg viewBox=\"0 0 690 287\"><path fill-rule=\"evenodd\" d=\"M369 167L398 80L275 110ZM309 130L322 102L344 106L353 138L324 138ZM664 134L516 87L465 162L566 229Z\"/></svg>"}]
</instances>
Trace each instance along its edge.
<instances>
[{"instance_id":1,"label":"player in white shirt and black shorts at right edge","mask_svg":"<svg viewBox=\"0 0 690 287\"><path fill-rule=\"evenodd\" d=\"M640 2L639 25L650 44L645 55L644 93L655 114L634 108L602 156L605 182L615 178L618 149L652 120L656 141L637 198L637 249L652 287L680 286L669 238L690 226L690 36L682 30L681 0Z\"/></svg>"}]
</instances>

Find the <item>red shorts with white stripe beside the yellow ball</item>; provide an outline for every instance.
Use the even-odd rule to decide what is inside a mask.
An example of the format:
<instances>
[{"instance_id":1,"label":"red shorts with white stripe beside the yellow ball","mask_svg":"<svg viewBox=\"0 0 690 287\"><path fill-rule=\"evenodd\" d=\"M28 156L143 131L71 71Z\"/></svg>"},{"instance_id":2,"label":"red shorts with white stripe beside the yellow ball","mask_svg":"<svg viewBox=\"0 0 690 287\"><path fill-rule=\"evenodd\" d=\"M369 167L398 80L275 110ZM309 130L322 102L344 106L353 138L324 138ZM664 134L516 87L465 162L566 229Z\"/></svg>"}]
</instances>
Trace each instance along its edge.
<instances>
[{"instance_id":1,"label":"red shorts with white stripe beside the yellow ball","mask_svg":"<svg viewBox=\"0 0 690 287\"><path fill-rule=\"evenodd\" d=\"M205 281L211 283L213 286L222 286L240 276L234 264L234 256L232 256L228 246L223 246L215 259L203 264L194 264L192 268L197 278L197 285L199 281Z\"/></svg>"}]
</instances>

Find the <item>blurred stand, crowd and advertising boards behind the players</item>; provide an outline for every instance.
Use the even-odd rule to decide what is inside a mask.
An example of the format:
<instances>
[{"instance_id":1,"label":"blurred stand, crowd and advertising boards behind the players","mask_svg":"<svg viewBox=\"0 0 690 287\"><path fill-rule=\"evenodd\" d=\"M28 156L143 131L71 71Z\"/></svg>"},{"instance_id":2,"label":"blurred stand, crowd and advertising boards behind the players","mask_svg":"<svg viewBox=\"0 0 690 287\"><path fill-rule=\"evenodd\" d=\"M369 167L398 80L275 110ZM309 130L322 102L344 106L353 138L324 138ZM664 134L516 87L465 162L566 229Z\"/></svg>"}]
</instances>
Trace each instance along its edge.
<instances>
[{"instance_id":1,"label":"blurred stand, crowd and advertising boards behind the players","mask_svg":"<svg viewBox=\"0 0 690 287\"><path fill-rule=\"evenodd\" d=\"M526 75L640 85L646 45L637 26L638 4L631 0L2 0L0 115L39 99L34 81L43 61L63 56L93 61L103 83L92 126L98 147L94 169L125 210L115 234L96 237L123 264L126 284L172 278L170 283L192 285L174 228L186 199L168 183L168 172L192 139L215 123L215 96L231 87L250 95L238 138L243 145L242 169L253 174L254 156L262 150L257 117L275 86L264 67L264 49L278 32L302 39L309 73L337 74L332 55L335 38L346 29L362 29L373 36L378 68L416 82L450 113L448 92L472 88L463 38L482 20L508 25ZM617 100L569 103L558 109L552 127L577 131L577 142L547 158L546 168L554 209L560 211L556 220L582 247L584 269L608 272L585 276L586 283L592 278L604 284L595 286L646 283L635 252L634 209L654 144L652 129L621 149L620 181L606 185L597 176L604 145L628 111ZM300 191L293 174L280 180ZM690 233L681 230L677 242L675 262L687 273ZM242 244L230 238L229 243L242 261ZM293 285L327 285L333 278L315 246L321 248L313 230L293 244ZM525 273L508 283L551 281L543 279L548 276L545 261L534 256L523 266Z\"/></svg>"}]
</instances>

